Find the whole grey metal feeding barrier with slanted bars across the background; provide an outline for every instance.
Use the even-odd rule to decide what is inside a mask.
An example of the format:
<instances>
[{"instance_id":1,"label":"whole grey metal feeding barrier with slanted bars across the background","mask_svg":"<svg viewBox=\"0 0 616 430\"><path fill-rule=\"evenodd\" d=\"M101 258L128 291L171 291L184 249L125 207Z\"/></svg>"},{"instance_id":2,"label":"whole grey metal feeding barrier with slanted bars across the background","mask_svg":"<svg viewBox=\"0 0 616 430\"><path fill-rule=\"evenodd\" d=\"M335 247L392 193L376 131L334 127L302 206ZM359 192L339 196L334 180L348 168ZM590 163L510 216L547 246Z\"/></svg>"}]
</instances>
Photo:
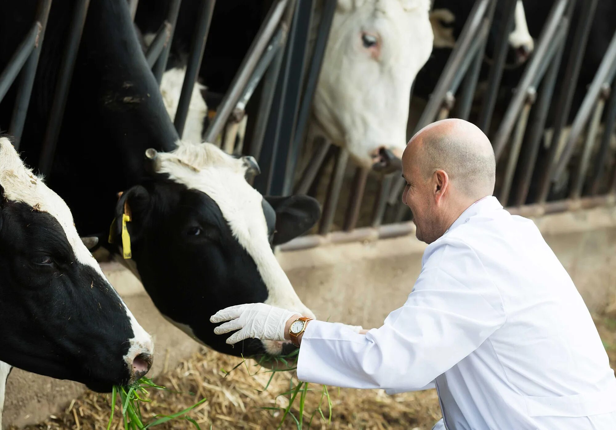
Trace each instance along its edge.
<instances>
[{"instance_id":1,"label":"whole grey metal feeding barrier with slanted bars across the background","mask_svg":"<svg viewBox=\"0 0 616 430\"><path fill-rule=\"evenodd\" d=\"M498 105L498 92L505 71L509 33L514 28L516 2L474 2L423 112L412 124L413 134L432 121L452 116L477 124L490 137L495 151L498 165L495 195L512 213L530 216L614 204L616 163L608 166L606 160L614 157L611 139L616 126L613 89L616 34L567 133L598 0L552 1L535 51L503 109ZM126 0L126 4L134 19L139 1ZM169 0L166 17L144 53L159 84L167 67L181 4L182 0ZM308 127L310 110L336 4L336 0L272 0L203 136L204 141L217 142L228 153L254 156L259 161L261 175L254 179L253 185L263 194L309 193L316 188L315 181L323 175L324 166L333 163L317 233L296 238L280 246L281 249L395 237L414 230L408 222L412 214L400 201L405 185L400 172L373 175L367 169L355 168L347 205L339 207L348 166L353 166L349 164L346 149L325 140L310 154L307 167L296 175L302 146L313 139ZM51 171L88 6L89 0L76 1L73 6L41 152L43 173ZM184 83L174 116L179 136L184 130L215 6L215 0L204 0L195 14L197 25L190 41ZM31 30L0 74L0 101L20 75L9 128L16 147L26 119L50 7L51 0L38 2ZM497 7L505 20L491 32ZM316 32L312 31L314 28ZM494 37L493 54L488 66L485 56L490 37ZM569 57L563 62L565 52ZM482 71L487 73L487 79L484 91L478 92ZM411 88L410 95L412 92ZM253 97L254 94L258 97ZM476 105L479 108L473 110ZM247 107L255 107L251 110L254 118L248 118ZM498 109L502 110L498 112L502 116L496 120ZM552 132L544 142L549 113L553 114ZM603 131L597 139L601 124ZM237 136L243 136L247 128L251 139L245 144ZM580 148L582 137L585 139ZM556 190L567 172L572 172L569 189L567 195L562 195ZM368 208L370 219L360 216L367 204L362 200L367 184L376 185L371 189L377 190L370 196L373 197L373 206ZM339 226L334 223L337 214L344 214ZM338 231L334 231L336 227Z\"/></svg>"}]
</instances>

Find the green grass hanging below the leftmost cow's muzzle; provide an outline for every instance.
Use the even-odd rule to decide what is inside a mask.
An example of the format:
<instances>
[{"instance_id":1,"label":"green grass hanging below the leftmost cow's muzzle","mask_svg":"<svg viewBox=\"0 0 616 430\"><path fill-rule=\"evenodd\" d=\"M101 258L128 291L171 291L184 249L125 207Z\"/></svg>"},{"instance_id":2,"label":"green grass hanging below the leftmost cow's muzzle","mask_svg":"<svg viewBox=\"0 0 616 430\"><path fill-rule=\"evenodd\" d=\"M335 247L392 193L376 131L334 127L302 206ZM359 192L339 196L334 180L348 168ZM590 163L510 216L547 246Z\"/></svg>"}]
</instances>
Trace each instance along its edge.
<instances>
[{"instance_id":1,"label":"green grass hanging below the leftmost cow's muzzle","mask_svg":"<svg viewBox=\"0 0 616 430\"><path fill-rule=\"evenodd\" d=\"M107 430L111 428L111 422L113 421L113 413L115 412L115 405L118 395L120 397L121 414L124 420L124 430L145 430L171 420L185 420L193 424L193 426L195 426L198 430L201 430L199 424L197 424L197 421L190 418L190 416L184 415L205 402L206 399L202 399L191 407L172 415L156 415L152 421L146 423L143 415L141 414L139 404L140 402L152 401L144 396L144 394L148 394L148 389L166 390L166 387L156 385L152 382L152 379L149 378L141 378L129 386L113 386L111 391L111 416L109 417Z\"/></svg>"}]
</instances>

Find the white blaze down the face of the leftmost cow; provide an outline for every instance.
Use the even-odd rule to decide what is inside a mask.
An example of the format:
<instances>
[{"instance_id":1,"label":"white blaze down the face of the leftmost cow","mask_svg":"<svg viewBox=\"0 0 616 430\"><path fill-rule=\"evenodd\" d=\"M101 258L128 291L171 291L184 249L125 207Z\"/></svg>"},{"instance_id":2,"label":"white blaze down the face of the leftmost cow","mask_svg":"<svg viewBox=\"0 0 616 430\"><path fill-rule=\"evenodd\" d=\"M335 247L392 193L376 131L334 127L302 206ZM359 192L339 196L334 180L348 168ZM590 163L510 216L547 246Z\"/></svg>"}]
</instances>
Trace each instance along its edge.
<instances>
[{"instance_id":1,"label":"white blaze down the face of the leftmost cow","mask_svg":"<svg viewBox=\"0 0 616 430\"><path fill-rule=\"evenodd\" d=\"M33 211L46 212L54 217L64 230L77 261L85 266L92 267L105 282L108 282L102 270L100 270L99 263L81 241L75 224L73 224L73 214L71 214L65 201L49 189L43 179L36 176L31 169L26 168L10 140L6 137L0 137L0 185L4 189L4 198L7 200L25 203L31 206ZM118 297L120 297L119 294ZM122 298L120 298L120 301L131 321L134 335L134 338L130 340L131 347L134 344L152 346L150 335L139 325ZM151 349L152 347L150 347Z\"/></svg>"}]
</instances>

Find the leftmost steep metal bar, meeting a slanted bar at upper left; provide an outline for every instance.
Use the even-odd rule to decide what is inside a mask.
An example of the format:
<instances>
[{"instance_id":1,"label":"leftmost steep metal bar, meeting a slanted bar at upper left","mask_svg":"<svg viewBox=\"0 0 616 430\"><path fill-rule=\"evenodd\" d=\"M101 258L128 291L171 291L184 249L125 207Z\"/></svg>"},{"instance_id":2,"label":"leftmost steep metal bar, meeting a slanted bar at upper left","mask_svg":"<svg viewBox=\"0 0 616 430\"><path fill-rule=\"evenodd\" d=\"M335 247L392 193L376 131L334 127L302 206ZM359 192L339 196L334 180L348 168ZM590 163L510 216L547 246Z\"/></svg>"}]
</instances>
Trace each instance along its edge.
<instances>
[{"instance_id":1,"label":"leftmost steep metal bar, meeting a slanted bar at upper left","mask_svg":"<svg viewBox=\"0 0 616 430\"><path fill-rule=\"evenodd\" d=\"M28 60L23 66L22 73L20 73L22 77L17 89L13 115L10 118L9 134L13 136L12 143L15 149L19 148L19 144L22 140L23 124L26 121L28 105L30 105L30 95L32 93L32 87L34 86L36 67L41 55L41 47L43 46L43 38L47 28L47 18L49 17L50 8L51 0L39 0L35 21L41 25L41 31L38 34L36 44L30 53L30 57L28 57Z\"/></svg>"}]
</instances>

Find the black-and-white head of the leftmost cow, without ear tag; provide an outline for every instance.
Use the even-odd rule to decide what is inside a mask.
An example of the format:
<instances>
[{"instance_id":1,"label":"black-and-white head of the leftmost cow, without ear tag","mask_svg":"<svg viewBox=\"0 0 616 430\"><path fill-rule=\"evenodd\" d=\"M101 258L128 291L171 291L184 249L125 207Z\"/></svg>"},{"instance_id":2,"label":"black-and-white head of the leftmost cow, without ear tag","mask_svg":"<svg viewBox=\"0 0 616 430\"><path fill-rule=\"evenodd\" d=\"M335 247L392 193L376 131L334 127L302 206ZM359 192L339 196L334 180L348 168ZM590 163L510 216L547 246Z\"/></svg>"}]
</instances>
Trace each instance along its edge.
<instances>
[{"instance_id":1,"label":"black-and-white head of the leftmost cow, without ear tag","mask_svg":"<svg viewBox=\"0 0 616 430\"><path fill-rule=\"evenodd\" d=\"M152 338L77 234L70 209L0 137L0 360L85 383L127 384Z\"/></svg>"}]
</instances>

